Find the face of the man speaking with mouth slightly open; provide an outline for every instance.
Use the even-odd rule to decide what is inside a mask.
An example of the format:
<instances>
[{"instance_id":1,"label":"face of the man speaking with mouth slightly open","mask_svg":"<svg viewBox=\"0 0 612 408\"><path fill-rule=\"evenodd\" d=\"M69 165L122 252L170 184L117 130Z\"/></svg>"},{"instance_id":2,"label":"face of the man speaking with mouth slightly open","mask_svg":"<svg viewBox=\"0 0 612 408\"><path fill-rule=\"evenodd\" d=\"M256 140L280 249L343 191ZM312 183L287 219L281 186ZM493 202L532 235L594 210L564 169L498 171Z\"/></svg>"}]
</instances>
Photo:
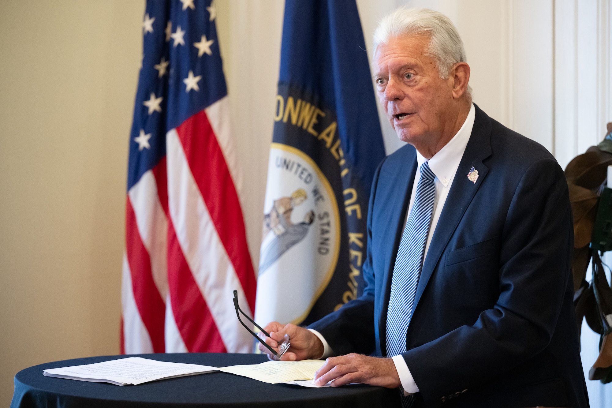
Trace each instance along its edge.
<instances>
[{"instance_id":1,"label":"face of the man speaking with mouth slightly open","mask_svg":"<svg viewBox=\"0 0 612 408\"><path fill-rule=\"evenodd\" d=\"M374 56L378 98L398 137L413 146L436 145L452 110L452 80L439 77L428 45L423 36L391 39Z\"/></svg>"}]
</instances>

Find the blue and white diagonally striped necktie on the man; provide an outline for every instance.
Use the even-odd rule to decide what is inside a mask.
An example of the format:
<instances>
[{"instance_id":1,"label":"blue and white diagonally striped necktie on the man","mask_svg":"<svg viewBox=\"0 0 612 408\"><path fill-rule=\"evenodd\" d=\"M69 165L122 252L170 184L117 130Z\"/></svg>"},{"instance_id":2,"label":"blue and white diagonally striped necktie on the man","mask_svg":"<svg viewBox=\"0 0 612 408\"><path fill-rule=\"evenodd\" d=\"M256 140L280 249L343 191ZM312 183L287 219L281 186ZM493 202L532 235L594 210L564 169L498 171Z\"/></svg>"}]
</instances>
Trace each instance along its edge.
<instances>
[{"instance_id":1,"label":"blue and white diagonally striped necktie on the man","mask_svg":"<svg viewBox=\"0 0 612 408\"><path fill-rule=\"evenodd\" d=\"M387 356L392 357L406 351L406 331L414 311L414 296L419 284L423 267L425 244L429 235L433 203L436 197L436 175L429 168L428 162L420 167L419 184L414 196L414 204L408 216L408 222L401 235L397 251L393 276L391 279L391 297L387 309ZM412 395L403 397L402 406L412 406Z\"/></svg>"}]
</instances>

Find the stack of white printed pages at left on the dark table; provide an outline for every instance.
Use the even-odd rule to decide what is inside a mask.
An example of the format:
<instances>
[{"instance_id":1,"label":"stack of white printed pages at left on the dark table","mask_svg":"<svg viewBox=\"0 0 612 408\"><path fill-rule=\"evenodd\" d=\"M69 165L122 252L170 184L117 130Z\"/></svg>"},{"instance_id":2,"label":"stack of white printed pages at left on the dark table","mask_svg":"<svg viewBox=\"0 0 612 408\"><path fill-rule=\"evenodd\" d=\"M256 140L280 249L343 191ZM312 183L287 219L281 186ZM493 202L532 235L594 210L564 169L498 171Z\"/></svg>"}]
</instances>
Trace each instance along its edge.
<instances>
[{"instance_id":1,"label":"stack of white printed pages at left on the dark table","mask_svg":"<svg viewBox=\"0 0 612 408\"><path fill-rule=\"evenodd\" d=\"M149 360L149 358L142 357L127 357L102 363L47 369L43 370L43 375L81 381L110 382L116 385L137 385L143 382L193 376L213 371L217 371L217 368L197 364L168 363L168 361Z\"/></svg>"}]
</instances>

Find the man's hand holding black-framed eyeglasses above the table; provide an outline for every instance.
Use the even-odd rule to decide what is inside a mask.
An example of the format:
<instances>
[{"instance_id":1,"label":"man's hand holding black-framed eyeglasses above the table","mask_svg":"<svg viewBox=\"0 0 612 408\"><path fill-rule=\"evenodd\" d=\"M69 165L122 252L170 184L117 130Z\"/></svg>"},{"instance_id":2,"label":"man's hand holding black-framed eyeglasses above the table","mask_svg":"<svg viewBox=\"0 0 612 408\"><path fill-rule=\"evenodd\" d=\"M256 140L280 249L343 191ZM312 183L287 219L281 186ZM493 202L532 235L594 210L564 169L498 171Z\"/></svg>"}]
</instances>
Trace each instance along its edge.
<instances>
[{"instance_id":1,"label":"man's hand holding black-framed eyeglasses above the table","mask_svg":"<svg viewBox=\"0 0 612 408\"><path fill-rule=\"evenodd\" d=\"M310 330L291 323L282 325L278 322L268 323L264 330L270 333L270 337L263 333L259 333L259 337L277 352L278 345L283 342L283 337L289 334L291 347L281 358L283 361L317 359L323 356L323 342ZM259 344L259 350L272 354L263 344Z\"/></svg>"}]
</instances>

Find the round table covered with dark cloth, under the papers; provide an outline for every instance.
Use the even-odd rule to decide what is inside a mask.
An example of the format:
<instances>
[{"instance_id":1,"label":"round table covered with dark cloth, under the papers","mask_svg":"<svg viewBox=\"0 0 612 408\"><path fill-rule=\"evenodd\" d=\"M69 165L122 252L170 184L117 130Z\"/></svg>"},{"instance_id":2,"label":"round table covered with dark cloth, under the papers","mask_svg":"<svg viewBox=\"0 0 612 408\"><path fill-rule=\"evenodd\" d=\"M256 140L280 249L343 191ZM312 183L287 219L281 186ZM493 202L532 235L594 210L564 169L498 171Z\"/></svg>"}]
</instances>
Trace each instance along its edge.
<instances>
[{"instance_id":1,"label":"round table covered with dark cloth, under the papers","mask_svg":"<svg viewBox=\"0 0 612 408\"><path fill-rule=\"evenodd\" d=\"M338 388L305 388L269 384L225 372L147 382L119 387L110 383L86 382L42 375L43 369L99 363L125 355L75 358L54 361L21 370L15 376L11 408L29 407L400 407L398 390L347 385ZM261 354L177 353L141 354L175 363L225 367L267 361Z\"/></svg>"}]
</instances>

